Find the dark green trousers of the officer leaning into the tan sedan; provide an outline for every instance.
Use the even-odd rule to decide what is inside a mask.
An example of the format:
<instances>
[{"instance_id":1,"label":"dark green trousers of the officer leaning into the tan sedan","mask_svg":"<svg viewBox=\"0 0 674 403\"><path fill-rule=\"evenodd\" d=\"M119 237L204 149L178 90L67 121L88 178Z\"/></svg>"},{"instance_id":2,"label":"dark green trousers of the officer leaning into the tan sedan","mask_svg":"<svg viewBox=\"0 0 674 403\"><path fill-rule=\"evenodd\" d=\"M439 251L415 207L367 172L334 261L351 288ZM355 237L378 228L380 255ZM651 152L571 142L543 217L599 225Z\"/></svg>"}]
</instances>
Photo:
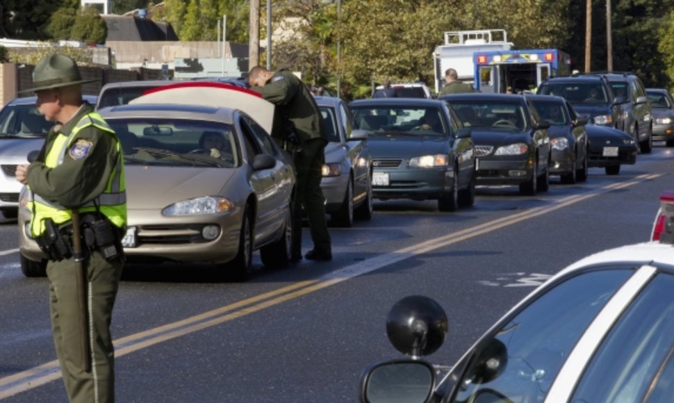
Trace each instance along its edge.
<instances>
[{"instance_id":1,"label":"dark green trousers of the officer leaning into the tan sedan","mask_svg":"<svg viewBox=\"0 0 674 403\"><path fill-rule=\"evenodd\" d=\"M322 138L305 140L302 153L295 156L297 170L297 196L293 222L293 254L302 254L302 206L309 220L309 231L313 249L332 252L327 219L325 218L325 197L320 188L321 170L325 162L323 151L326 142Z\"/></svg>"}]
</instances>

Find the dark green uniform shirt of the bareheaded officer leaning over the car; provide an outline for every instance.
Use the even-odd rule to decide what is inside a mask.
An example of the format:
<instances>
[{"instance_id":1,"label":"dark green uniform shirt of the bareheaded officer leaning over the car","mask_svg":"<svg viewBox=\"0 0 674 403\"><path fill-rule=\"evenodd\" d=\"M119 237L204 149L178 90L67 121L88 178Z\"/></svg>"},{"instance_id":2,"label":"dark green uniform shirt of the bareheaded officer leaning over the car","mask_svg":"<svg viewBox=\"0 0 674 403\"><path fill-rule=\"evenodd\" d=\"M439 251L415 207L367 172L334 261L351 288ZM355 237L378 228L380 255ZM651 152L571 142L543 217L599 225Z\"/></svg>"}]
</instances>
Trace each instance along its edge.
<instances>
[{"instance_id":1,"label":"dark green uniform shirt of the bareheaded officer leaning over the car","mask_svg":"<svg viewBox=\"0 0 674 403\"><path fill-rule=\"evenodd\" d=\"M264 87L252 89L262 94L263 99L277 106L272 136L282 138L281 117L285 115L295 124L297 135L302 141L325 138L322 115L313 95L295 74L286 69L277 70Z\"/></svg>"}]
</instances>

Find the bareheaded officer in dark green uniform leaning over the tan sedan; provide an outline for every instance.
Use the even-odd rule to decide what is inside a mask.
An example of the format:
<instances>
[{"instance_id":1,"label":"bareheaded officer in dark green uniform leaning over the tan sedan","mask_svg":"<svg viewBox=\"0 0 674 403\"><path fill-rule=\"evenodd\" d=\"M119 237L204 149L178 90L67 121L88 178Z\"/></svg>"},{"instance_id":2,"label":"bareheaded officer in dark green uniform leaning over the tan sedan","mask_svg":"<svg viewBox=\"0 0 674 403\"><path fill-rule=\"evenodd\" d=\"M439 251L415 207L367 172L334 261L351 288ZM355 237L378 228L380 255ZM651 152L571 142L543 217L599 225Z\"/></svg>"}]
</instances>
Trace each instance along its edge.
<instances>
[{"instance_id":1,"label":"bareheaded officer in dark green uniform leaning over the tan sedan","mask_svg":"<svg viewBox=\"0 0 674 403\"><path fill-rule=\"evenodd\" d=\"M297 170L297 192L293 214L293 261L302 258L302 215L309 219L309 230L313 249L306 258L317 261L332 259L330 235L325 218L325 199L320 188L321 169L324 163L323 150L327 145L324 138L322 116L311 92L295 74L286 69L270 72L261 66L253 67L248 76L253 90L276 105L272 137L283 141L286 149L293 152ZM288 131L279 120L287 118L292 122L297 140L289 141Z\"/></svg>"}]
</instances>

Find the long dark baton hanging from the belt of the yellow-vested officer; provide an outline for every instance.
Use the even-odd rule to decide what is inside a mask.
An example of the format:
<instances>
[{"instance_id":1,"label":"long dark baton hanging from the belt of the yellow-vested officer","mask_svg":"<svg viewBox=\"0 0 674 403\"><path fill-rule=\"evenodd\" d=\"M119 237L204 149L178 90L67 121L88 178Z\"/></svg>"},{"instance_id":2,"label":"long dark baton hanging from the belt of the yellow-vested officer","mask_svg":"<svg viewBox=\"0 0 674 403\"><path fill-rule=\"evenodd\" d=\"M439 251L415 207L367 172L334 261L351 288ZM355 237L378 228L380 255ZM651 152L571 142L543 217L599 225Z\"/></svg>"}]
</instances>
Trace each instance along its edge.
<instances>
[{"instance_id":1,"label":"long dark baton hanging from the belt of the yellow-vested officer","mask_svg":"<svg viewBox=\"0 0 674 403\"><path fill-rule=\"evenodd\" d=\"M75 277L77 286L77 307L81 334L82 368L91 371L91 354L89 345L89 310L87 302L87 273L84 266L82 236L79 210L72 211L72 255L75 261Z\"/></svg>"}]
</instances>

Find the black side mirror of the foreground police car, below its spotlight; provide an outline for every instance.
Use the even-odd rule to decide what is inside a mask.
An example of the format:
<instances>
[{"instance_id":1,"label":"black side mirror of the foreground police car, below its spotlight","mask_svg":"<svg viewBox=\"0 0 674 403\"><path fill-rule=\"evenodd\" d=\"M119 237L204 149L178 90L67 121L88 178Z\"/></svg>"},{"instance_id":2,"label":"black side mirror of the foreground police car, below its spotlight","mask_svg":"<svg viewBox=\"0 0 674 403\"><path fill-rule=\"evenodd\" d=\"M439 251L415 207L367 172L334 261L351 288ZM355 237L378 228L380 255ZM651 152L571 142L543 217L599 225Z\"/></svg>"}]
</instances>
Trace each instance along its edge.
<instances>
[{"instance_id":1,"label":"black side mirror of the foreground police car, below its spotlight","mask_svg":"<svg viewBox=\"0 0 674 403\"><path fill-rule=\"evenodd\" d=\"M361 403L427 403L435 390L433 366L396 360L372 365L361 377Z\"/></svg>"}]
</instances>

